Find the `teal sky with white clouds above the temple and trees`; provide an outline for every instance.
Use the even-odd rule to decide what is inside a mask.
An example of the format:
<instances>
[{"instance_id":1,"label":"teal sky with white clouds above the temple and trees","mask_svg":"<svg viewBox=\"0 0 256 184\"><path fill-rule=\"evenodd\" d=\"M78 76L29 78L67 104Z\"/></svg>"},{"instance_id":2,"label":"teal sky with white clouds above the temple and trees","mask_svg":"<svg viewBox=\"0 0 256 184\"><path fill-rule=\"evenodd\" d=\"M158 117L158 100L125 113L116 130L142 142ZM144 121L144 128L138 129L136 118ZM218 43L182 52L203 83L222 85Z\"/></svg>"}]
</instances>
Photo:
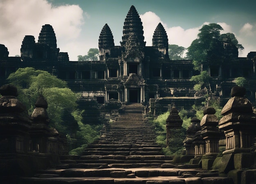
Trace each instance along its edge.
<instances>
[{"instance_id":1,"label":"teal sky with white clouds above the temple and trees","mask_svg":"<svg viewBox=\"0 0 256 184\"><path fill-rule=\"evenodd\" d=\"M116 46L120 45L124 21L134 5L144 27L146 46L161 22L169 44L185 48L197 38L204 24L217 23L221 33L234 33L244 46L239 57L256 51L256 1L253 0L0 0L0 44L9 56L20 55L25 35L36 42L41 28L51 24L60 52L70 61L98 48L105 24L110 27Z\"/></svg>"}]
</instances>

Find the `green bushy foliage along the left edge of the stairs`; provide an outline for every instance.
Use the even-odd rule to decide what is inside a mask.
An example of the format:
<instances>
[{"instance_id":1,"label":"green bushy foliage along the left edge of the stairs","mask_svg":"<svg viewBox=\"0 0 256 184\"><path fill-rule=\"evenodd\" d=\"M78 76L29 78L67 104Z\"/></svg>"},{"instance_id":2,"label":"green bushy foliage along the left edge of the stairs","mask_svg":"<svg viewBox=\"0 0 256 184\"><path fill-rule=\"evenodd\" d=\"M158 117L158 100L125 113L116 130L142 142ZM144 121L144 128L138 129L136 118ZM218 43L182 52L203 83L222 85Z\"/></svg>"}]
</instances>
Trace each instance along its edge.
<instances>
[{"instance_id":1,"label":"green bushy foliage along the left edge of the stairs","mask_svg":"<svg viewBox=\"0 0 256 184\"><path fill-rule=\"evenodd\" d=\"M100 130L102 129L103 125L88 125L82 123L82 116L81 114L83 111L75 110L72 112L75 120L79 125L79 131L76 133L77 143L79 145L78 148L73 149L69 152L70 155L81 155L83 150L88 146L88 144L97 140L100 136Z\"/></svg>"}]
</instances>

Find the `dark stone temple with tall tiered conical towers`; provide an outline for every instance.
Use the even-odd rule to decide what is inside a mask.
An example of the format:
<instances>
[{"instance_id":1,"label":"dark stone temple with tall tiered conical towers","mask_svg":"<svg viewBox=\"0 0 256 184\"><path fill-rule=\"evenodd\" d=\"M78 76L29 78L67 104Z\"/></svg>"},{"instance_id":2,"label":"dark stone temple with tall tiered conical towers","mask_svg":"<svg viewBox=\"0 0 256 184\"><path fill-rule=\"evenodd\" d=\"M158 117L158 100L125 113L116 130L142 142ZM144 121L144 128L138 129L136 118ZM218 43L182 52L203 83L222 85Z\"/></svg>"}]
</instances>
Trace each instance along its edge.
<instances>
[{"instance_id":1,"label":"dark stone temple with tall tiered conical towers","mask_svg":"<svg viewBox=\"0 0 256 184\"><path fill-rule=\"evenodd\" d=\"M24 37L20 57L8 57L8 49L0 45L0 84L18 68L33 67L67 81L74 92L83 94L81 104L95 101L98 107L116 99L150 105L149 99L155 99L157 114L166 112L173 102L178 109L201 104L189 81L199 74L193 70L192 60L169 59L168 37L161 23L152 35L152 46L146 46L143 34L139 14L131 6L124 21L121 46L115 46L111 29L105 24L99 34L99 61L69 61L68 53L57 48L54 29L45 24L37 43L32 35ZM245 77L250 84L246 95L254 102L256 52L238 57L238 48L229 39L223 47L223 55L209 58L202 66L211 76L213 93L220 96L224 105L235 85L234 78Z\"/></svg>"}]
</instances>

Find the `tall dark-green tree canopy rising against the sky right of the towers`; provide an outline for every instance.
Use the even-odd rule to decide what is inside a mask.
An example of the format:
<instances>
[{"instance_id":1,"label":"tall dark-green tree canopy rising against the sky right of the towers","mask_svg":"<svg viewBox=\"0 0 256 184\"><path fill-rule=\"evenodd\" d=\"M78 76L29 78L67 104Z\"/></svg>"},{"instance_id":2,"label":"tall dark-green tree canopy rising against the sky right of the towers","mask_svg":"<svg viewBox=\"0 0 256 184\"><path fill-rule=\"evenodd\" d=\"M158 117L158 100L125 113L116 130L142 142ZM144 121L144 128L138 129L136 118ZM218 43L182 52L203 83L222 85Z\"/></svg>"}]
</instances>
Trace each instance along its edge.
<instances>
[{"instance_id":1,"label":"tall dark-green tree canopy rising against the sky right of the towers","mask_svg":"<svg viewBox=\"0 0 256 184\"><path fill-rule=\"evenodd\" d=\"M189 59L198 61L201 64L207 59L216 58L222 56L224 53L223 41L229 38L231 43L238 49L244 49L233 33L220 34L223 28L219 24L211 23L203 25L199 29L198 38L193 40L186 53ZM196 66L198 67L198 66Z\"/></svg>"}]
</instances>

